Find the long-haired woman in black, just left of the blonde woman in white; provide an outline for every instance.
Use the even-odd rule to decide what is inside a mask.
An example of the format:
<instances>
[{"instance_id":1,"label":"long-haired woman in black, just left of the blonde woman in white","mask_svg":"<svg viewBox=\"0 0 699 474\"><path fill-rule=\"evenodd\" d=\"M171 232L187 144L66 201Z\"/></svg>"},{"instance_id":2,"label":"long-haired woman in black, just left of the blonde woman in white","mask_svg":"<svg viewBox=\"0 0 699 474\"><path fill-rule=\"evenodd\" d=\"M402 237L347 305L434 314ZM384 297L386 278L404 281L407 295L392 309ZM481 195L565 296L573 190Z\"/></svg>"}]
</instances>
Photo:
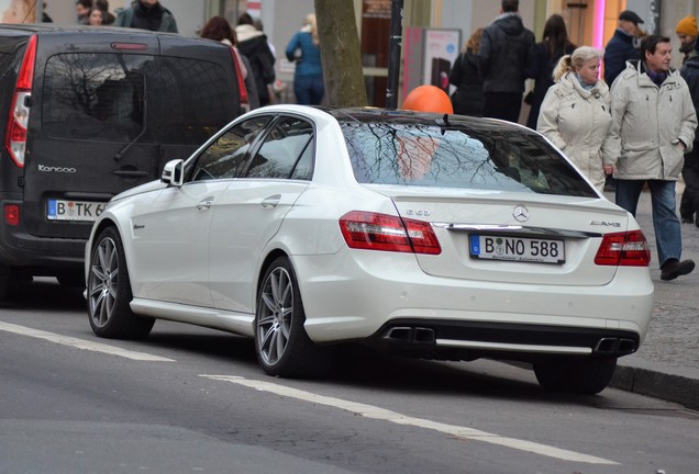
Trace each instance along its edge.
<instances>
[{"instance_id":1,"label":"long-haired woman in black, just left of the blonde woman in white","mask_svg":"<svg viewBox=\"0 0 699 474\"><path fill-rule=\"evenodd\" d=\"M528 103L531 105L526 126L536 129L536 121L541 104L546 97L548 88L553 86L553 72L563 55L573 54L575 45L568 40L568 31L563 16L553 14L544 25L544 38L541 43L532 45L526 58L524 74L529 79L534 79L534 90Z\"/></svg>"}]
</instances>

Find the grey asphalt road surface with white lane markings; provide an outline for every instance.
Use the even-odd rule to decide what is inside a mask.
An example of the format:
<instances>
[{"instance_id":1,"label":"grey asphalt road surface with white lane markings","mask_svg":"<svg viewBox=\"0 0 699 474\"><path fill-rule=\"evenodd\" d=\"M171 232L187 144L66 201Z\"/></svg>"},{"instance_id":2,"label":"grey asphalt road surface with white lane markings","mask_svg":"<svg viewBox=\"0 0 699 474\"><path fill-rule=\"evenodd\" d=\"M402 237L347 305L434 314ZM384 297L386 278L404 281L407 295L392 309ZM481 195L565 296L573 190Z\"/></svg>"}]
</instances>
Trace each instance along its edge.
<instances>
[{"instance_id":1,"label":"grey asphalt road surface with white lane markings","mask_svg":"<svg viewBox=\"0 0 699 474\"><path fill-rule=\"evenodd\" d=\"M265 376L249 341L158 321L96 338L79 292L0 309L2 473L696 473L699 414L531 371L352 350L322 381Z\"/></svg>"}]
</instances>

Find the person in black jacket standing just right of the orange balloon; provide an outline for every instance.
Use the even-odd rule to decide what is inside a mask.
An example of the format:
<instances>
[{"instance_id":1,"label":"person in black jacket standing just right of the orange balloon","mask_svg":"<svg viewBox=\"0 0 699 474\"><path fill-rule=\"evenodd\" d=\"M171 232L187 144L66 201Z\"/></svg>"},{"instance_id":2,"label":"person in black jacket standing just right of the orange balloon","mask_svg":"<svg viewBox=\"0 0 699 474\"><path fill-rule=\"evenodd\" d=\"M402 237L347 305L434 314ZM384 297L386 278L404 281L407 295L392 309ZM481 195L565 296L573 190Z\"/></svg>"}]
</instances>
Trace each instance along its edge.
<instances>
[{"instance_id":1,"label":"person in black jacket standing just right of the orange balloon","mask_svg":"<svg viewBox=\"0 0 699 474\"><path fill-rule=\"evenodd\" d=\"M486 99L482 93L482 79L478 71L478 56L476 56L482 31L484 29L478 29L470 35L450 70L450 83L456 86L456 91L452 94L455 114L482 116Z\"/></svg>"}]
</instances>

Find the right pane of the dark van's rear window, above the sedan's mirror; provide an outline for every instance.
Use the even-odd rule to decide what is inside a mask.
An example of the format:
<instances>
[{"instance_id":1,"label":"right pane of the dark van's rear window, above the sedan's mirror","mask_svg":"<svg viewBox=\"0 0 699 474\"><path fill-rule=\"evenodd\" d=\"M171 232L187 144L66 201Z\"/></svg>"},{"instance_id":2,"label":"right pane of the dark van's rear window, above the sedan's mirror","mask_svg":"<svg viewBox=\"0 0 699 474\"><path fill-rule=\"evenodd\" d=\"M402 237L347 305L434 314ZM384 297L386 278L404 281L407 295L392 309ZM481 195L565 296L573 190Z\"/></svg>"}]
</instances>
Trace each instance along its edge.
<instances>
[{"instance_id":1,"label":"right pane of the dark van's rear window, above the sedan's mirror","mask_svg":"<svg viewBox=\"0 0 699 474\"><path fill-rule=\"evenodd\" d=\"M236 84L218 63L162 58L163 140L202 144L237 116Z\"/></svg>"}]
</instances>

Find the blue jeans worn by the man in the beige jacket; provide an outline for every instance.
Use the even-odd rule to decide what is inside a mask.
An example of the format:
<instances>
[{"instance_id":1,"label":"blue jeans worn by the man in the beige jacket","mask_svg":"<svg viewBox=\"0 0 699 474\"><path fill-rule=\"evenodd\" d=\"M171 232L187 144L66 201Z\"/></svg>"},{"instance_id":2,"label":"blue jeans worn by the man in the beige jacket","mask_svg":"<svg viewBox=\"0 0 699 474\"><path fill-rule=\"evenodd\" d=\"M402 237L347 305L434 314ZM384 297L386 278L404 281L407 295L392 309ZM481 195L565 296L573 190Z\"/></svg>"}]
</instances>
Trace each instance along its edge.
<instances>
[{"instance_id":1,"label":"blue jeans worn by the man in the beige jacket","mask_svg":"<svg viewBox=\"0 0 699 474\"><path fill-rule=\"evenodd\" d=\"M675 181L662 180L617 180L617 204L633 216L636 215L639 198L643 184L651 188L651 204L653 205L653 228L661 268L668 259L679 260L683 255L683 235L679 219L675 212L677 203L675 196Z\"/></svg>"}]
</instances>

